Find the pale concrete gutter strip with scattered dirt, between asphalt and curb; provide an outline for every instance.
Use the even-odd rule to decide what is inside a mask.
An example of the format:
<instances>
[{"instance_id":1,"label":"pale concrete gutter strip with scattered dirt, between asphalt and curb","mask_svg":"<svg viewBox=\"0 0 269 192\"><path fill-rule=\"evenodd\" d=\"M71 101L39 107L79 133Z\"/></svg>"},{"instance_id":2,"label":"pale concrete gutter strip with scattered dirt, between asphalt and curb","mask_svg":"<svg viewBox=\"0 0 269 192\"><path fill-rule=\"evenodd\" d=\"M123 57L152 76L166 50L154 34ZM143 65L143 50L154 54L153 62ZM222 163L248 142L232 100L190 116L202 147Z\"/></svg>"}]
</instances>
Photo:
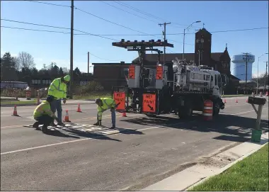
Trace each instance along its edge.
<instances>
[{"instance_id":1,"label":"pale concrete gutter strip with scattered dirt, between asphalt and curb","mask_svg":"<svg viewBox=\"0 0 269 192\"><path fill-rule=\"evenodd\" d=\"M210 176L221 174L236 162L248 157L268 142L268 132L261 137L261 143L244 142L227 151L221 152L205 161L191 166L178 174L174 174L158 183L154 183L142 191L187 191L188 188L197 185Z\"/></svg>"}]
</instances>

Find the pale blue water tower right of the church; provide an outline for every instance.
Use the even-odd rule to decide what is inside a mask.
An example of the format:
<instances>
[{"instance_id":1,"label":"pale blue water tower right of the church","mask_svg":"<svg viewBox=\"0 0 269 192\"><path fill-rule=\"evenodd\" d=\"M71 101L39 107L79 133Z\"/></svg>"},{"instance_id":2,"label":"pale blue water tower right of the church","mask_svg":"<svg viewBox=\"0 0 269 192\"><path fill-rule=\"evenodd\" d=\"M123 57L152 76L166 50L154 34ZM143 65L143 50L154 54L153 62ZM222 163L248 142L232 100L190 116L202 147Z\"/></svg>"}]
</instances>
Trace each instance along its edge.
<instances>
[{"instance_id":1,"label":"pale blue water tower right of the church","mask_svg":"<svg viewBox=\"0 0 269 192\"><path fill-rule=\"evenodd\" d=\"M255 55L248 54L248 74L246 76L246 54L234 55L231 59L231 74L240 80L252 79L252 64L255 62Z\"/></svg>"}]
</instances>

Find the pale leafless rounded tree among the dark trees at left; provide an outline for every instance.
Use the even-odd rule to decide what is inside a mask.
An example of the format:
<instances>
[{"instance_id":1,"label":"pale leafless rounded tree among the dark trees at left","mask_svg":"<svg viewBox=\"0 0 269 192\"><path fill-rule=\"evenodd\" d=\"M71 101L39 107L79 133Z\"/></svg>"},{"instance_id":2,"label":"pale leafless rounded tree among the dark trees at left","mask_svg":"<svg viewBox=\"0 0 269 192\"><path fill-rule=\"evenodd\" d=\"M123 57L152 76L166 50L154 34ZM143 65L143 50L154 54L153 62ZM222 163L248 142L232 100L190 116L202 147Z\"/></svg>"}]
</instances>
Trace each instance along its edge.
<instances>
[{"instance_id":1,"label":"pale leafless rounded tree among the dark trees at left","mask_svg":"<svg viewBox=\"0 0 269 192\"><path fill-rule=\"evenodd\" d=\"M19 52L18 57L16 58L16 65L18 69L32 69L35 67L35 62L33 56L28 52Z\"/></svg>"}]
</instances>

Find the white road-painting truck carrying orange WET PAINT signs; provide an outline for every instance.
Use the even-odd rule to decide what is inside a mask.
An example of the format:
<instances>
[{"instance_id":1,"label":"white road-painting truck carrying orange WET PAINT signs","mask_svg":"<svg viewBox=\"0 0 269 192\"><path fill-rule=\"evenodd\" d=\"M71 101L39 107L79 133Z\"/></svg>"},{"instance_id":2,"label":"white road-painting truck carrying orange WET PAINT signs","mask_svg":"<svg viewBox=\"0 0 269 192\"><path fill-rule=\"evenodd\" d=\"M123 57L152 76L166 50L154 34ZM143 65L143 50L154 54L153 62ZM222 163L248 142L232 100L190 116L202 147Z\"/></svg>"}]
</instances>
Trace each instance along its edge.
<instances>
[{"instance_id":1,"label":"white road-painting truck carrying orange WET PAINT signs","mask_svg":"<svg viewBox=\"0 0 269 192\"><path fill-rule=\"evenodd\" d=\"M177 58L161 64L162 52L154 47L173 47L167 40L125 42L122 39L112 45L139 52L139 62L129 67L127 87L113 87L115 101L125 103L119 104L117 111L148 116L175 113L181 118L188 118L193 111L203 111L206 100L213 103L213 115L224 109L221 93L226 85L226 75L214 71L212 67L196 66ZM158 61L154 64L145 61L146 51L157 52ZM129 101L130 97L132 101Z\"/></svg>"}]
</instances>

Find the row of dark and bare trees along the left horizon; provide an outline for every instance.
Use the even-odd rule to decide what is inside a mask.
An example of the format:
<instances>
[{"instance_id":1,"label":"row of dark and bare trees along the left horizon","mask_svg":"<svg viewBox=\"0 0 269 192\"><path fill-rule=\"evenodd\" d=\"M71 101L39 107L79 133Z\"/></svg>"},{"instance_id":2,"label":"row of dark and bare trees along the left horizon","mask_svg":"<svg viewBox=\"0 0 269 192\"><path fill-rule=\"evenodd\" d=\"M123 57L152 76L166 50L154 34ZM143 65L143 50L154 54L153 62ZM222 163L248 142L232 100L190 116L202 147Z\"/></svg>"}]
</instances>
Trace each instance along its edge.
<instances>
[{"instance_id":1,"label":"row of dark and bare trees along the left horizon","mask_svg":"<svg viewBox=\"0 0 269 192\"><path fill-rule=\"evenodd\" d=\"M42 77L55 79L69 74L67 67L58 67L55 62L46 65L42 69L35 67L35 61L28 52L19 52L18 57L11 57L10 52L6 52L1 57L1 81L24 81L30 83L32 79ZM73 71L74 79L81 75L78 67Z\"/></svg>"}]
</instances>

